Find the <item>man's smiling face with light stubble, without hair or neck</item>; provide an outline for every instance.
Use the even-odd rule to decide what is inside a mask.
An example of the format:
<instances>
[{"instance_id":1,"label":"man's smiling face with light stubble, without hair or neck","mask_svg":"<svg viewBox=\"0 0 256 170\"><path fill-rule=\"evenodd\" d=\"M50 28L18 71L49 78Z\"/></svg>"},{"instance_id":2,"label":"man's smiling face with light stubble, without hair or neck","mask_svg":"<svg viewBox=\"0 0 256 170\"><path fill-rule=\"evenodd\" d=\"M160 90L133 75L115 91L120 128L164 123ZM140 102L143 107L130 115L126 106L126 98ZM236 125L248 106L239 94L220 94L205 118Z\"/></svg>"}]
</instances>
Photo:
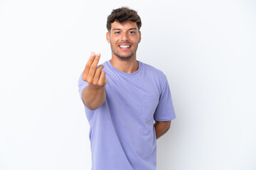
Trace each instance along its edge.
<instances>
[{"instance_id":1,"label":"man's smiling face with light stubble, without hair or neck","mask_svg":"<svg viewBox=\"0 0 256 170\"><path fill-rule=\"evenodd\" d=\"M130 60L136 56L141 41L141 33L137 24L132 21L126 23L114 22L110 32L107 32L107 42L110 43L112 55L121 60Z\"/></svg>"}]
</instances>

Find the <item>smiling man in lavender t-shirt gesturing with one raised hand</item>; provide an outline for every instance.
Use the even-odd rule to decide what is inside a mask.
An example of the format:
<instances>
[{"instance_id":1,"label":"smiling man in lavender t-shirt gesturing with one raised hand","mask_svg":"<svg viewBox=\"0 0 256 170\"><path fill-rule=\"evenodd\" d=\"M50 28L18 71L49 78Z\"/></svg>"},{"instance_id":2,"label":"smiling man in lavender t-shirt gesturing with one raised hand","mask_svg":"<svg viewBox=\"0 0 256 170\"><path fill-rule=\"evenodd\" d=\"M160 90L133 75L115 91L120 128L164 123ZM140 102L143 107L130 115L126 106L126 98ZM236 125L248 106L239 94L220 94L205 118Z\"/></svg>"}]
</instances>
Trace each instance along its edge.
<instances>
[{"instance_id":1,"label":"smiling man in lavender t-shirt gesturing with one raised hand","mask_svg":"<svg viewBox=\"0 0 256 170\"><path fill-rule=\"evenodd\" d=\"M92 52L80 76L92 170L155 170L156 139L176 118L166 76L136 59L141 26L136 11L113 10L107 18L112 58L98 66L100 54Z\"/></svg>"}]
</instances>

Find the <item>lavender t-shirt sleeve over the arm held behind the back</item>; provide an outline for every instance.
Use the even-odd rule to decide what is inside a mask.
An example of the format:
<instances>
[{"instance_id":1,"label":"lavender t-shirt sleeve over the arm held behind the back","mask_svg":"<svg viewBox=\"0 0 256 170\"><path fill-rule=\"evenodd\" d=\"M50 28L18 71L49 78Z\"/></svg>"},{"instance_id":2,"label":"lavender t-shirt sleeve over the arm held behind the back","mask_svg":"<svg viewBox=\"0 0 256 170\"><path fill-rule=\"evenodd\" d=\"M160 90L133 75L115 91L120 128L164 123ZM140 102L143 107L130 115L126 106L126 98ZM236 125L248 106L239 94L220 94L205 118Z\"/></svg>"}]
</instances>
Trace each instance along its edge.
<instances>
[{"instance_id":1,"label":"lavender t-shirt sleeve over the arm held behind the back","mask_svg":"<svg viewBox=\"0 0 256 170\"><path fill-rule=\"evenodd\" d=\"M161 91L161 94L159 97L159 103L154 113L154 120L156 121L174 120L176 118L176 114L174 112L174 105L171 100L171 91L169 88L169 84L165 76L164 76L163 85L164 85L163 90Z\"/></svg>"}]
</instances>

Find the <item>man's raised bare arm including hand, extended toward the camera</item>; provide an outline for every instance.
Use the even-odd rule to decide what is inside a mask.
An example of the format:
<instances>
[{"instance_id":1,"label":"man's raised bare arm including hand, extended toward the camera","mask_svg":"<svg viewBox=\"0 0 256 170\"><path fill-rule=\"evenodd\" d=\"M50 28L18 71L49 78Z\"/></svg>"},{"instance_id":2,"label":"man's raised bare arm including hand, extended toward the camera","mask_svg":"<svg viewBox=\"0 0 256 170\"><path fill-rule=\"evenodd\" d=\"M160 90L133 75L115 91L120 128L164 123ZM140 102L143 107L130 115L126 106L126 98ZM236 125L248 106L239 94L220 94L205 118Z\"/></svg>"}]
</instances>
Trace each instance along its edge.
<instances>
[{"instance_id":1,"label":"man's raised bare arm including hand, extended toward the camera","mask_svg":"<svg viewBox=\"0 0 256 170\"><path fill-rule=\"evenodd\" d=\"M82 80L87 81L89 84L82 90L82 102L90 110L100 108L106 98L106 73L102 72L102 65L97 67L99 60L100 54L95 55L95 53L92 52L82 74Z\"/></svg>"}]
</instances>

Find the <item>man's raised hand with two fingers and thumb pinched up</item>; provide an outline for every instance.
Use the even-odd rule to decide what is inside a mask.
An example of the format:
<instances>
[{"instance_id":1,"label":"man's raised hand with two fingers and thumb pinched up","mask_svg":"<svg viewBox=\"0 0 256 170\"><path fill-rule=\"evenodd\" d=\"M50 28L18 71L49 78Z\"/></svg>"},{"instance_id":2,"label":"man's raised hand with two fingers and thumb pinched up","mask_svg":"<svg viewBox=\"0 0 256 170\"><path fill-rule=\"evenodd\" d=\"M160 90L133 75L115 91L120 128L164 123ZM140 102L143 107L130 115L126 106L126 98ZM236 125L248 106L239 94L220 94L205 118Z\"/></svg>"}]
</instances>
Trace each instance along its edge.
<instances>
[{"instance_id":1,"label":"man's raised hand with two fingers and thumb pinched up","mask_svg":"<svg viewBox=\"0 0 256 170\"><path fill-rule=\"evenodd\" d=\"M82 80L87 81L90 86L95 89L100 89L107 84L106 73L102 71L103 65L97 67L100 60L100 53L95 55L95 52L91 52L90 58L85 65L85 69L82 73Z\"/></svg>"}]
</instances>

